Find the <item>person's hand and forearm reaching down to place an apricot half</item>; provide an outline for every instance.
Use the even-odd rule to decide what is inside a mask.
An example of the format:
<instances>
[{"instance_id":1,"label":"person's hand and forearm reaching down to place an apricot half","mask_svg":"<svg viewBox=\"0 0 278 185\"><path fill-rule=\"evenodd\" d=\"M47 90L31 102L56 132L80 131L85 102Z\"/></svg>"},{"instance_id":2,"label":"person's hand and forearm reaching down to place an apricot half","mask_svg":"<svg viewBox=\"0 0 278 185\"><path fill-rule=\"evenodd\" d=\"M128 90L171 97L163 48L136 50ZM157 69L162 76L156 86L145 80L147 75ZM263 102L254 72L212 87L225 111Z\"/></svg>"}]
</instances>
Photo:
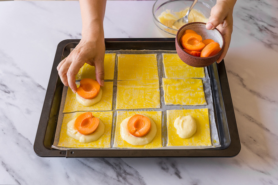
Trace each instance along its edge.
<instances>
[{"instance_id":1,"label":"person's hand and forearm reaching down to place an apricot half","mask_svg":"<svg viewBox=\"0 0 278 185\"><path fill-rule=\"evenodd\" d=\"M82 39L57 66L58 74L65 86L76 93L75 75L85 64L95 66L95 77L104 85L105 43L103 19L106 0L79 0L82 17Z\"/></svg>"}]
</instances>

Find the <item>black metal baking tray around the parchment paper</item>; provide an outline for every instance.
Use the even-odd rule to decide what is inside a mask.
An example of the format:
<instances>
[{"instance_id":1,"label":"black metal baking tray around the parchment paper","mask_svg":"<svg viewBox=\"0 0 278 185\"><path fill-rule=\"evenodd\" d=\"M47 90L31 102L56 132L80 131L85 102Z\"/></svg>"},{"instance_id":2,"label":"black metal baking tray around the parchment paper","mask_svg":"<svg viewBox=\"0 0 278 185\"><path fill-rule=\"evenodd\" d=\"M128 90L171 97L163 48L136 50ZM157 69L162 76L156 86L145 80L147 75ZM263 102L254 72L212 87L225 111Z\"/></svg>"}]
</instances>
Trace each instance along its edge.
<instances>
[{"instance_id":1,"label":"black metal baking tray around the parchment paper","mask_svg":"<svg viewBox=\"0 0 278 185\"><path fill-rule=\"evenodd\" d=\"M224 61L207 67L211 80L213 107L220 147L209 149L92 149L57 150L51 148L59 109L63 83L57 65L70 54L80 39L63 40L57 46L44 105L34 142L34 151L41 157L234 157L240 141ZM106 50L170 50L175 51L175 38L105 39Z\"/></svg>"}]
</instances>

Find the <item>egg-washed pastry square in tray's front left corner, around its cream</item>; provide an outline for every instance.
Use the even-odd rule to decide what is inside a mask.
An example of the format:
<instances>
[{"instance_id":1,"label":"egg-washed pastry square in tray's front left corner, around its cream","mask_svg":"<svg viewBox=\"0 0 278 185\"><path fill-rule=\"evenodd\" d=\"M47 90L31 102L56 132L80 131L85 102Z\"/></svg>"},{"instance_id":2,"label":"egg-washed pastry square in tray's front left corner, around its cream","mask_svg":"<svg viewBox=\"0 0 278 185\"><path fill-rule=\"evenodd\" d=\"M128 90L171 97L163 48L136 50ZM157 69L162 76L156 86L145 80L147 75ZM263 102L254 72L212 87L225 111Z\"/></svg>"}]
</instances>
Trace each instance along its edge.
<instances>
[{"instance_id":1,"label":"egg-washed pastry square in tray's front left corner, around its cream","mask_svg":"<svg viewBox=\"0 0 278 185\"><path fill-rule=\"evenodd\" d=\"M75 140L67 135L68 122L78 117L82 113L84 112L64 114L59 143L57 146L67 148L111 148L111 130L113 121L112 111L91 112L95 117L98 117L105 125L104 134L98 140L89 143L81 143L78 140Z\"/></svg>"}]
</instances>

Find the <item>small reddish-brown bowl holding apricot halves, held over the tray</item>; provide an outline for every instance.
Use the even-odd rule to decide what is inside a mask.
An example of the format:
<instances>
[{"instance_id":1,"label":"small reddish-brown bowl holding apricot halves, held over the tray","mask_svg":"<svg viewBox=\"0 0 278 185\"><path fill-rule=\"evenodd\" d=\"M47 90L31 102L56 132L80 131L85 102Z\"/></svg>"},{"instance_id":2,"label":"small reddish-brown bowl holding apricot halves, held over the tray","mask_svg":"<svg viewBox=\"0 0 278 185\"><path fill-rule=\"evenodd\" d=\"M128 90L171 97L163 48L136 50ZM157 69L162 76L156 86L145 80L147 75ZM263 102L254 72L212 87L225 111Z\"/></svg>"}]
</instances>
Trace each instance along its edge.
<instances>
[{"instance_id":1,"label":"small reddish-brown bowl holding apricot halves, held over the tray","mask_svg":"<svg viewBox=\"0 0 278 185\"><path fill-rule=\"evenodd\" d=\"M221 50L217 54L208 57L199 57L199 56L193 56L188 54L183 50L183 46L180 43L180 38L183 35L185 30L196 31L198 35L202 36L203 40L213 39L215 42L219 43ZM175 45L176 45L176 51L179 55L179 58L185 64L200 68L200 67L206 67L213 64L219 58L219 56L223 52L225 46L225 40L223 35L218 29L215 28L213 30L207 30L206 23L194 22L194 23L188 23L179 29L176 35Z\"/></svg>"}]
</instances>

